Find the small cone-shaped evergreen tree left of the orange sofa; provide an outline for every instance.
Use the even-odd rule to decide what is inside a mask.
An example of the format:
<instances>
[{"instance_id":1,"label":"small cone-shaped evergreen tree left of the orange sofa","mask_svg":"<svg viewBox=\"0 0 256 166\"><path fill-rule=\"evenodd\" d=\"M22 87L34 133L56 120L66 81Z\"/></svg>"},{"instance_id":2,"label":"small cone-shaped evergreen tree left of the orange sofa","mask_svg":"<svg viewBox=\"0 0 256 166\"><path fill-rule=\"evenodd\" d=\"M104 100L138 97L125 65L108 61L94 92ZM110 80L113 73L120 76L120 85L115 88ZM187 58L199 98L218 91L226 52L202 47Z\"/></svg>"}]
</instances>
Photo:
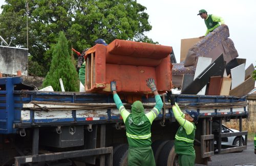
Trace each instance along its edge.
<instances>
[{"instance_id":1,"label":"small cone-shaped evergreen tree left of the orange sofa","mask_svg":"<svg viewBox=\"0 0 256 166\"><path fill-rule=\"evenodd\" d=\"M65 91L78 91L78 74L68 51L68 40L63 32L59 33L58 43L53 50L50 71L42 86L52 86L55 91L61 91L59 78L62 78Z\"/></svg>"}]
</instances>

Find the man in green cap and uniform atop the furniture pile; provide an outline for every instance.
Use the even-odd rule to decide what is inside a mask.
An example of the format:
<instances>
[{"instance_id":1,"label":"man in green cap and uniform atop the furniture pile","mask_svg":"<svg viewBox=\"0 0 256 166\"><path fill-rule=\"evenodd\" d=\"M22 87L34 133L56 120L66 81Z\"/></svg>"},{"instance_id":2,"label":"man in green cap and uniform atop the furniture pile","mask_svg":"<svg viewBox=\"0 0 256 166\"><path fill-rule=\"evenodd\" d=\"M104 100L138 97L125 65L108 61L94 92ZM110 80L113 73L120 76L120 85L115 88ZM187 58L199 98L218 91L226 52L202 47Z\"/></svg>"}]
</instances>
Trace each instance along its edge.
<instances>
[{"instance_id":1,"label":"man in green cap and uniform atop the furniture pile","mask_svg":"<svg viewBox=\"0 0 256 166\"><path fill-rule=\"evenodd\" d=\"M199 10L199 13L197 15L200 15L201 18L204 19L204 23L207 27L205 36L208 35L210 32L214 31L216 27L220 26L219 22L221 23L221 25L225 26L225 22L222 17L213 14L208 15L206 10L204 9ZM201 36L200 38L205 36Z\"/></svg>"}]
</instances>

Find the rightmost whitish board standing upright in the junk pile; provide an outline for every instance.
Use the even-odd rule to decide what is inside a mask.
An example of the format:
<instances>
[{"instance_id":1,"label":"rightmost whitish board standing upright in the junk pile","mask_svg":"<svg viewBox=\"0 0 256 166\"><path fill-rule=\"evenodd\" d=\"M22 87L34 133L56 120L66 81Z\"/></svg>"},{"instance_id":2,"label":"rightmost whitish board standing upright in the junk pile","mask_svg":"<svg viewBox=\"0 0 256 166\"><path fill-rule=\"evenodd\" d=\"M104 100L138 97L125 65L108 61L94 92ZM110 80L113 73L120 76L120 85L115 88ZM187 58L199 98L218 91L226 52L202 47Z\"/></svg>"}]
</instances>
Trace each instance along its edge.
<instances>
[{"instance_id":1,"label":"rightmost whitish board standing upright in the junk pile","mask_svg":"<svg viewBox=\"0 0 256 166\"><path fill-rule=\"evenodd\" d=\"M230 70L231 72L231 90L243 83L245 77L245 64L239 65Z\"/></svg>"}]
</instances>

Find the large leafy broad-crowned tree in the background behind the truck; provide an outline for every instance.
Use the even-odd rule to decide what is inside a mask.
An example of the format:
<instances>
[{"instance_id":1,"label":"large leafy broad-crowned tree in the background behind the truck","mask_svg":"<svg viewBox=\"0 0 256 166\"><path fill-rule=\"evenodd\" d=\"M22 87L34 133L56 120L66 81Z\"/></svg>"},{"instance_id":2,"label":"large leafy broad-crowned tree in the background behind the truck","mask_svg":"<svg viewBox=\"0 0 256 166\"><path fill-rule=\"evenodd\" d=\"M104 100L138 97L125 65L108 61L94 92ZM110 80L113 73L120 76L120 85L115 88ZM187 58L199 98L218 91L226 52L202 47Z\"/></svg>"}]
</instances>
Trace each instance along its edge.
<instances>
[{"instance_id":1,"label":"large leafy broad-crowned tree in the background behind the truck","mask_svg":"<svg viewBox=\"0 0 256 166\"><path fill-rule=\"evenodd\" d=\"M12 46L27 48L27 10L30 65L39 65L45 76L52 59L52 44L58 32L66 34L76 50L94 45L98 38L107 43L114 39L154 43L144 35L152 26L148 23L146 8L136 0L6 0L0 14L0 34L7 41L14 37ZM33 63L35 62L35 63ZM40 74L36 68L30 74Z\"/></svg>"}]
</instances>

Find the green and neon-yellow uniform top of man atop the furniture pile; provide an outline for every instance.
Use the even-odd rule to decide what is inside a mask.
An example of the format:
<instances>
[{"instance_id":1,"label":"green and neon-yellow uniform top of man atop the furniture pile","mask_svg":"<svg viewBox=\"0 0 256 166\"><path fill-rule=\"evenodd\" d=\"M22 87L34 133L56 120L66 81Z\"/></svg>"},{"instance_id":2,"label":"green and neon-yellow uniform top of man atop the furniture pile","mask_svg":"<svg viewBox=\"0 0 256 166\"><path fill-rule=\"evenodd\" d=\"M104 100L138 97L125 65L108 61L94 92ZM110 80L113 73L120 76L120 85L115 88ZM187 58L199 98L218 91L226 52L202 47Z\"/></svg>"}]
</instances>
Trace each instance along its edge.
<instances>
[{"instance_id":1,"label":"green and neon-yellow uniform top of man atop the furniture pile","mask_svg":"<svg viewBox=\"0 0 256 166\"><path fill-rule=\"evenodd\" d=\"M219 22L221 22L221 24L224 24L224 20L221 17L209 14L207 18L204 20L204 23L207 27L205 36L210 32L214 31L216 27L220 26Z\"/></svg>"}]
</instances>

